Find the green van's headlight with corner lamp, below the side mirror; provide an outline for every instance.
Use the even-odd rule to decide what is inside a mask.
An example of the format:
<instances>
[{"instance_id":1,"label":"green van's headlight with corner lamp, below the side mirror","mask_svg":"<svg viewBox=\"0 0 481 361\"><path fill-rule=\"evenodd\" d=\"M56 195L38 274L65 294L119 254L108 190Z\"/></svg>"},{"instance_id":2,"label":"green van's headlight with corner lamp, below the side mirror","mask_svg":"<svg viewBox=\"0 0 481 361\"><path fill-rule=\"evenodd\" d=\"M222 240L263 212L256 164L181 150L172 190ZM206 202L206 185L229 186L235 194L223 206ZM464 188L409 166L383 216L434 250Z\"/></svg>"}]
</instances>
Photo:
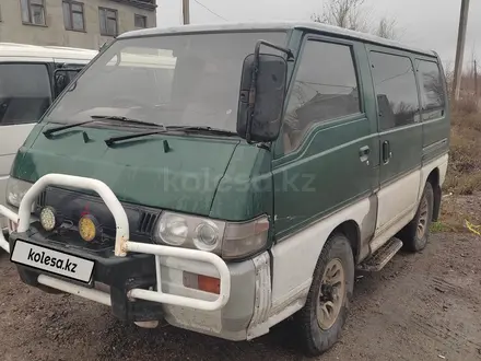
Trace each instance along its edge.
<instances>
[{"instance_id":1,"label":"green van's headlight with corner lamp, below the side mirror","mask_svg":"<svg viewBox=\"0 0 481 361\"><path fill-rule=\"evenodd\" d=\"M208 251L228 258L242 258L267 244L269 220L224 222L201 217L163 212L155 229L156 243Z\"/></svg>"}]
</instances>

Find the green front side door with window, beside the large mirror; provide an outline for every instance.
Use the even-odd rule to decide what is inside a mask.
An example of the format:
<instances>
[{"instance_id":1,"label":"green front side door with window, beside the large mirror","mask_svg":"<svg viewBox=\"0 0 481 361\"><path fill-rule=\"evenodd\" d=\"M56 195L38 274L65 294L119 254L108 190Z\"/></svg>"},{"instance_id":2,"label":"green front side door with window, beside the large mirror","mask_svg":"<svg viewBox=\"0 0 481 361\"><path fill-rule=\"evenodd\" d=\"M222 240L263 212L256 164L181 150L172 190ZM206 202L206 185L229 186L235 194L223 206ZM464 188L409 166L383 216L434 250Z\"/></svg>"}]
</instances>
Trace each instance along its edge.
<instances>
[{"instance_id":1,"label":"green front side door with window, beside the large mirror","mask_svg":"<svg viewBox=\"0 0 481 361\"><path fill-rule=\"evenodd\" d=\"M303 44L273 164L278 240L377 187L377 132L359 75L369 71L364 55L354 42L313 36Z\"/></svg>"}]
</instances>

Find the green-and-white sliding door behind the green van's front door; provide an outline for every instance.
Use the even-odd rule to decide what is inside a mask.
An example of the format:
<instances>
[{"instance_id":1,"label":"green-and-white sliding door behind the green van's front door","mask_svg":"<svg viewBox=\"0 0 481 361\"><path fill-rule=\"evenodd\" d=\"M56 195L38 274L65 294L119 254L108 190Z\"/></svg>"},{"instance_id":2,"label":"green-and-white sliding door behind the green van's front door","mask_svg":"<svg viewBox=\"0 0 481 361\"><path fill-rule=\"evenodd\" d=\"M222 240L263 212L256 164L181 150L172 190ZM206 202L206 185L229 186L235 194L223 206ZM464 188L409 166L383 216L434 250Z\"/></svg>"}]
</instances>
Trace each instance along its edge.
<instances>
[{"instance_id":1,"label":"green-and-white sliding door behind the green van's front door","mask_svg":"<svg viewBox=\"0 0 481 361\"><path fill-rule=\"evenodd\" d=\"M375 47L369 51L380 150L376 235L399 228L412 213L422 158L422 123L412 60L400 51L384 51Z\"/></svg>"}]
</instances>

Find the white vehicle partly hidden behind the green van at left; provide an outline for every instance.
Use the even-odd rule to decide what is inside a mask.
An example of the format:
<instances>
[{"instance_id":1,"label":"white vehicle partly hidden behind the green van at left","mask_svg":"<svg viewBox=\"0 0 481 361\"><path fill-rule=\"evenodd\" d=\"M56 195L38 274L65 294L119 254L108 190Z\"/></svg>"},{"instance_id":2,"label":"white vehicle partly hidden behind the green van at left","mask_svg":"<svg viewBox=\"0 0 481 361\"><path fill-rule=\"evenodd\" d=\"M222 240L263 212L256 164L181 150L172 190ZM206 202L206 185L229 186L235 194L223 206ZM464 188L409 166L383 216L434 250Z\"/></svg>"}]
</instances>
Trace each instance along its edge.
<instances>
[{"instance_id":1,"label":"white vehicle partly hidden behind the green van at left","mask_svg":"<svg viewBox=\"0 0 481 361\"><path fill-rule=\"evenodd\" d=\"M51 102L98 51L0 43L0 205L17 149ZM56 82L57 79L57 82ZM7 220L0 219L0 229Z\"/></svg>"}]
</instances>

